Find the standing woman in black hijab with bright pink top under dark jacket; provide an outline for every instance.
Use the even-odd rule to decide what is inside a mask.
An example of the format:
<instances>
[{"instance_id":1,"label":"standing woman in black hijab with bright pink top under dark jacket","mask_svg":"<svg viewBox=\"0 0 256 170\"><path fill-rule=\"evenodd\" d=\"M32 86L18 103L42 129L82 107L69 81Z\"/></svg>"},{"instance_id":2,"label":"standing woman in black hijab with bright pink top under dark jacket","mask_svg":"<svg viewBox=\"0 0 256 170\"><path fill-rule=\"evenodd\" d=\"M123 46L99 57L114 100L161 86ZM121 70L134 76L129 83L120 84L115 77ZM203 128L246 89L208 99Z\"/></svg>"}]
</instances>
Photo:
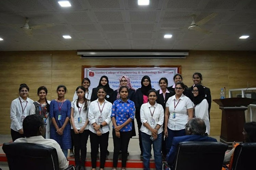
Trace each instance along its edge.
<instances>
[{"instance_id":1,"label":"standing woman in black hijab with bright pink top under dark jacket","mask_svg":"<svg viewBox=\"0 0 256 170\"><path fill-rule=\"evenodd\" d=\"M142 154L142 140L141 140L141 132L140 132L140 128L142 125L141 120L140 120L140 107L142 104L148 102L147 95L148 95L148 91L151 89L152 89L152 86L151 86L150 77L145 75L141 79L141 88L137 89L136 93L134 95L134 103L135 103L135 108L136 108L135 118L136 118L138 129L139 129L139 144L140 144L141 157L143 154Z\"/></svg>"}]
</instances>

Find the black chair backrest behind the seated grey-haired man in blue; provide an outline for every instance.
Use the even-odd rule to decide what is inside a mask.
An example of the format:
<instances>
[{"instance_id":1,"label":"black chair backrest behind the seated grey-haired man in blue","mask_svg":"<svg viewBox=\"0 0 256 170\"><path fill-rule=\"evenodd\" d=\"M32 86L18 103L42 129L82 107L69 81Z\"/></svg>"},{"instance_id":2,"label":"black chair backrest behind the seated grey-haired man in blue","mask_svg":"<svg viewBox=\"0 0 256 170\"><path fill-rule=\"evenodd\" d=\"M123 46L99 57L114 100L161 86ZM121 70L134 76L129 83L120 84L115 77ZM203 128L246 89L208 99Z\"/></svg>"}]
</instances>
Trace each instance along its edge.
<instances>
[{"instance_id":1,"label":"black chair backrest behind the seated grey-haired man in blue","mask_svg":"<svg viewBox=\"0 0 256 170\"><path fill-rule=\"evenodd\" d=\"M221 142L180 142L175 170L221 170L228 145Z\"/></svg>"}]
</instances>

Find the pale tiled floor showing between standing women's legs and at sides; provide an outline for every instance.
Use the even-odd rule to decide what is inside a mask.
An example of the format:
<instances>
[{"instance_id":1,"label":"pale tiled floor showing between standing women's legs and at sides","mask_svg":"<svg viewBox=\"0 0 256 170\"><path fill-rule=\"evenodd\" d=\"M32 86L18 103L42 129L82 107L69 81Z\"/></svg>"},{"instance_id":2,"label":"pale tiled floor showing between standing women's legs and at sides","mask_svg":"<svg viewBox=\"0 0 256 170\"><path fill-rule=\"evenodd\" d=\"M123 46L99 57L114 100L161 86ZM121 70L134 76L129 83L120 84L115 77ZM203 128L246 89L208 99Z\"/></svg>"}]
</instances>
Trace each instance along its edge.
<instances>
[{"instance_id":1,"label":"pale tiled floor showing between standing women's legs and at sides","mask_svg":"<svg viewBox=\"0 0 256 170\"><path fill-rule=\"evenodd\" d=\"M219 141L219 136L211 136L213 138L216 138ZM0 145L5 142L10 142L12 141L11 135L0 135ZM110 155L107 157L107 159L112 159L113 158L113 138L109 138L109 147L108 150L110 151ZM87 142L87 158L90 158L90 140L88 139ZM139 148L139 139L138 138L132 138L129 143L129 156L128 160L140 160L140 148ZM2 145L0 148L0 154L4 154L2 150ZM153 155L153 150L152 150L152 159L154 158ZM6 162L0 162L0 168L2 170L9 170L8 165L6 165Z\"/></svg>"}]
</instances>

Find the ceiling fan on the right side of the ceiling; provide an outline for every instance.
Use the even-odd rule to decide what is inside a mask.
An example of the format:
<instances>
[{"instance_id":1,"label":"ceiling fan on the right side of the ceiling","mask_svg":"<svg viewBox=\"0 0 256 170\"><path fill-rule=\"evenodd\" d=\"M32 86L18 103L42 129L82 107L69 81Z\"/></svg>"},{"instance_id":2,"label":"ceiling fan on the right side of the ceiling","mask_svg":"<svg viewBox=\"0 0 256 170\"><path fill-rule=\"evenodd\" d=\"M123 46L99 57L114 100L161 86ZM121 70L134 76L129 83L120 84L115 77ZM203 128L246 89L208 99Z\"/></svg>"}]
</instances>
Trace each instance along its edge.
<instances>
[{"instance_id":1,"label":"ceiling fan on the right side of the ceiling","mask_svg":"<svg viewBox=\"0 0 256 170\"><path fill-rule=\"evenodd\" d=\"M195 17L196 15L192 15L192 22L190 24L190 26L188 27L189 30L195 30L195 31L200 31L203 33L211 33L210 31L207 31L205 29L202 29L201 26L205 23L207 23L209 20L211 20L212 18L214 18L217 15L217 13L212 13L210 15L208 15L207 17L201 19L200 21L196 22L195 21ZM187 27L181 27L181 28L187 28ZM165 28L160 28L163 30L174 30L174 29L180 29L179 27L165 27Z\"/></svg>"}]
</instances>

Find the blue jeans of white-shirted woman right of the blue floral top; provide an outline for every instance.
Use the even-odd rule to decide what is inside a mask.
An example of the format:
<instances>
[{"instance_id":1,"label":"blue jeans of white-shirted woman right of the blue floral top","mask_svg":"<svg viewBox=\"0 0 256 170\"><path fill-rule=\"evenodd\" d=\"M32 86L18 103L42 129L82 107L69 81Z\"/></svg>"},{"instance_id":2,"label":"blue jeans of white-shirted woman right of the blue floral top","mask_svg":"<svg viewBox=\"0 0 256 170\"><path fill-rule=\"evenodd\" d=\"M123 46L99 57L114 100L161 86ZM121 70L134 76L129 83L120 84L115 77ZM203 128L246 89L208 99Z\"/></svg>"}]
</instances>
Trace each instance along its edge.
<instances>
[{"instance_id":1,"label":"blue jeans of white-shirted woman right of the blue floral top","mask_svg":"<svg viewBox=\"0 0 256 170\"><path fill-rule=\"evenodd\" d=\"M141 132L142 148L143 148L143 165L144 170L150 170L151 145L153 144L154 158L156 170L162 169L162 133L157 135L156 140L150 139L151 135Z\"/></svg>"}]
</instances>

